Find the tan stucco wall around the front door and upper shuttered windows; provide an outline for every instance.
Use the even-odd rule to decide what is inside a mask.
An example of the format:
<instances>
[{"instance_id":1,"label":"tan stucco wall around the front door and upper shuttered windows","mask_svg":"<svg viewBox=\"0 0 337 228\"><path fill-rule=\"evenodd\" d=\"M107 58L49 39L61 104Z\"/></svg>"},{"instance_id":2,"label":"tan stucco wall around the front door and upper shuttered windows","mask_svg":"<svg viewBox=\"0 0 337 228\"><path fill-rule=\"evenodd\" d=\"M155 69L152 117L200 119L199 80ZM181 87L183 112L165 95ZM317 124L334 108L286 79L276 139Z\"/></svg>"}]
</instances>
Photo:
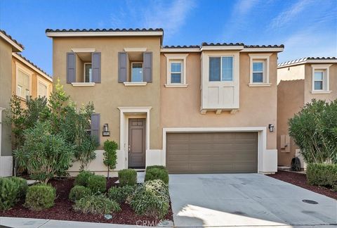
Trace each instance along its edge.
<instances>
[{"instance_id":1,"label":"tan stucco wall around the front door and upper shuttered windows","mask_svg":"<svg viewBox=\"0 0 337 228\"><path fill-rule=\"evenodd\" d=\"M147 48L153 52L152 83L145 87L125 87L118 83L118 52L124 48ZM120 115L117 107L152 106L150 110L150 149L161 148L160 140L160 99L159 99L159 37L60 37L53 38L53 75L73 101L81 106L93 101L95 112L100 113L100 128L109 124L110 137L100 138L101 144L106 139L119 144ZM66 83L66 53L71 49L95 49L101 52L101 83L94 87L73 87ZM119 145L122 147L123 145Z\"/></svg>"}]
</instances>

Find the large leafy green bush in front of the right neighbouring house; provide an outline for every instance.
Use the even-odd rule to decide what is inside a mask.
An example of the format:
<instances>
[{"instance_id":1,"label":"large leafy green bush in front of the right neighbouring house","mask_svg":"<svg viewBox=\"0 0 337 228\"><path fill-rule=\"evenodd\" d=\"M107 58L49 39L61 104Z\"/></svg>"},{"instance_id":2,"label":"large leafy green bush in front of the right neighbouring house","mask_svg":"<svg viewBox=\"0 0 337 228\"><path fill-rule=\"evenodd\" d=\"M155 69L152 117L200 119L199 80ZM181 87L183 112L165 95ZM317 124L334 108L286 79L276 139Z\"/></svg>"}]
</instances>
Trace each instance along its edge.
<instances>
[{"instance_id":1,"label":"large leafy green bush in front of the right neighbouring house","mask_svg":"<svg viewBox=\"0 0 337 228\"><path fill-rule=\"evenodd\" d=\"M337 163L337 99L312 99L289 120L289 135L306 163Z\"/></svg>"}]
</instances>

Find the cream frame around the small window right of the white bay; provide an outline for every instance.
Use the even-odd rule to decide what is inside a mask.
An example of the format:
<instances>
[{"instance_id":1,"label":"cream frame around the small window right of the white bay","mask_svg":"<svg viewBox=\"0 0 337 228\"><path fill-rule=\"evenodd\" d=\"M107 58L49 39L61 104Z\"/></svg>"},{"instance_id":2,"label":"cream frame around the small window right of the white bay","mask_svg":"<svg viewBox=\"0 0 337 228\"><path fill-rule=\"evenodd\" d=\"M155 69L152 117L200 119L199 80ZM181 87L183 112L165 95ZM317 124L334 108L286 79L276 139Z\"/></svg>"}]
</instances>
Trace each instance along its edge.
<instances>
[{"instance_id":1,"label":"cream frame around the small window right of the white bay","mask_svg":"<svg viewBox=\"0 0 337 228\"><path fill-rule=\"evenodd\" d=\"M249 87L270 87L270 56L272 53L249 53ZM263 62L263 82L253 82L253 63Z\"/></svg>"}]
</instances>

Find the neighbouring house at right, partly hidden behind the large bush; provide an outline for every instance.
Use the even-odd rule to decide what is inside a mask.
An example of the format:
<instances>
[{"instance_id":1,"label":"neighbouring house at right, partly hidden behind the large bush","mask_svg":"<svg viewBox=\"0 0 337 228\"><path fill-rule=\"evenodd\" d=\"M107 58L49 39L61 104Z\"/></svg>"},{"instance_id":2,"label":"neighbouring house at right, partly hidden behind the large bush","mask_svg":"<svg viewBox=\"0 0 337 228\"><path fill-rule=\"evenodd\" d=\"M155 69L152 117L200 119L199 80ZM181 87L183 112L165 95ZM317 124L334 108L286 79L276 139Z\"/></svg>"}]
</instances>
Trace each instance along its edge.
<instances>
[{"instance_id":1,"label":"neighbouring house at right, partly hidden behind the large bush","mask_svg":"<svg viewBox=\"0 0 337 228\"><path fill-rule=\"evenodd\" d=\"M288 120L312 99L337 99L337 58L308 57L279 63L277 82L278 165L290 166L299 150L289 137Z\"/></svg>"}]
</instances>

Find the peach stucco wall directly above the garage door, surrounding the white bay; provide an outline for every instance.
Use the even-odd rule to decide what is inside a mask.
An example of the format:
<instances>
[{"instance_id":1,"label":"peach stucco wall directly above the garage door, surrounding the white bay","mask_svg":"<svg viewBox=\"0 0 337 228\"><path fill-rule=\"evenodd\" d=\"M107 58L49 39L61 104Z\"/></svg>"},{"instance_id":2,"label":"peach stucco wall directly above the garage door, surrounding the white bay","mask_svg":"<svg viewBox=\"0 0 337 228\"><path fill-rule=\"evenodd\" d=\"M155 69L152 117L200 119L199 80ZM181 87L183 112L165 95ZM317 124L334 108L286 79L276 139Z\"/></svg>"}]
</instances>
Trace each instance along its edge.
<instances>
[{"instance_id":1,"label":"peach stucco wall directly above the garage door, surrounding the white bay","mask_svg":"<svg viewBox=\"0 0 337 228\"><path fill-rule=\"evenodd\" d=\"M277 54L270 56L271 87L249 87L249 55L240 53L239 111L200 113L200 53L187 56L187 88L166 88L166 57L161 53L161 127L267 127L267 149L276 149Z\"/></svg>"}]
</instances>

